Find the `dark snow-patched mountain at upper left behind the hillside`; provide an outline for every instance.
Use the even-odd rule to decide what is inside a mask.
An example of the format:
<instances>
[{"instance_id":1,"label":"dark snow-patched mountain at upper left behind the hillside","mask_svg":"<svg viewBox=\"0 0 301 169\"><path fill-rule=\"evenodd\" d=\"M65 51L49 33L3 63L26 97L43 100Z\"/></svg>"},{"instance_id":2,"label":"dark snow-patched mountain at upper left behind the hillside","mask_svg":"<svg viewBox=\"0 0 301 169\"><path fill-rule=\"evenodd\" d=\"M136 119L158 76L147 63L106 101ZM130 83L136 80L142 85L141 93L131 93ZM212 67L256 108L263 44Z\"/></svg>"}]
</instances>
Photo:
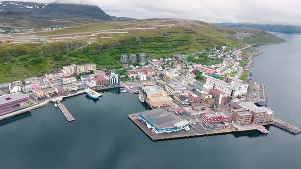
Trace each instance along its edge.
<instances>
[{"instance_id":1,"label":"dark snow-patched mountain at upper left behind the hillside","mask_svg":"<svg viewBox=\"0 0 301 169\"><path fill-rule=\"evenodd\" d=\"M109 16L101 8L92 5L61 3L0 2L0 19L6 18L52 18L71 19L88 18L104 21L126 21L134 18Z\"/></svg>"}]
</instances>

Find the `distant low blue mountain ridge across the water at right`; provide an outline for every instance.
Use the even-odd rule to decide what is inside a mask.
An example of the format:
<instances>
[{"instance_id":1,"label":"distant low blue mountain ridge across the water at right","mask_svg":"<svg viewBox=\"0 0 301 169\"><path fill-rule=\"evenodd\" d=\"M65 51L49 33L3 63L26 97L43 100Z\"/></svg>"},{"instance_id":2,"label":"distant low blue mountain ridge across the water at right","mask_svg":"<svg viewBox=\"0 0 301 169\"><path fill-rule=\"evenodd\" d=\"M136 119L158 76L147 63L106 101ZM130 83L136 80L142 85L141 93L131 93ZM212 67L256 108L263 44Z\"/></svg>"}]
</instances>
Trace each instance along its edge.
<instances>
[{"instance_id":1,"label":"distant low blue mountain ridge across the water at right","mask_svg":"<svg viewBox=\"0 0 301 169\"><path fill-rule=\"evenodd\" d=\"M301 26L283 24L255 24L255 23L212 23L220 27L250 27L268 32L279 32L284 34L300 34Z\"/></svg>"}]
</instances>

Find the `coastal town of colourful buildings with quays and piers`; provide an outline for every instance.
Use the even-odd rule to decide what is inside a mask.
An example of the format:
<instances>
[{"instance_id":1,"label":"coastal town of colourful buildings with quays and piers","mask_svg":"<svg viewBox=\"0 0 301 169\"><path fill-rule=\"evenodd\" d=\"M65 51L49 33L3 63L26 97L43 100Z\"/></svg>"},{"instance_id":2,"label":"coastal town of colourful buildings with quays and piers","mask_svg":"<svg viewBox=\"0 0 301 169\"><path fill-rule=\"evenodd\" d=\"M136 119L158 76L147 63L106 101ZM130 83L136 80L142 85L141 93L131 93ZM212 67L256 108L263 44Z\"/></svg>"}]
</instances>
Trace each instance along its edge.
<instances>
[{"instance_id":1,"label":"coastal town of colourful buildings with quays and piers","mask_svg":"<svg viewBox=\"0 0 301 169\"><path fill-rule=\"evenodd\" d=\"M120 55L123 69L119 70L96 69L95 64L69 65L42 77L4 82L0 84L0 119L52 101L73 121L61 103L63 98L86 93L98 99L99 90L122 88L122 93L139 94L140 101L152 108L128 116L152 140L247 130L266 134L265 125L300 133L274 118L264 85L250 81L247 71L252 58L245 58L241 49L228 47L159 59L147 59L147 53L125 53ZM190 62L202 57L219 62L210 66Z\"/></svg>"}]
</instances>

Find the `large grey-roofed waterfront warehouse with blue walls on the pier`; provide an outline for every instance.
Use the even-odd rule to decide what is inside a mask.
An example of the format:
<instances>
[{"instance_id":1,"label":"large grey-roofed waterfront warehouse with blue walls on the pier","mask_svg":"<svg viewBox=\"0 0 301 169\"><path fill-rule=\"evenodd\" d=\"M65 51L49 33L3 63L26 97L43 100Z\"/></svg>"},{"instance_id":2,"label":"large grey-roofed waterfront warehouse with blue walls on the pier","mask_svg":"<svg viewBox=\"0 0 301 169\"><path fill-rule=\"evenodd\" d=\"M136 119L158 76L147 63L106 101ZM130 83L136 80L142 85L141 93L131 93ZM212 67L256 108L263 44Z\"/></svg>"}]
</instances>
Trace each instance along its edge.
<instances>
[{"instance_id":1,"label":"large grey-roofed waterfront warehouse with blue walls on the pier","mask_svg":"<svg viewBox=\"0 0 301 169\"><path fill-rule=\"evenodd\" d=\"M141 112L139 119L156 133L179 131L189 125L187 120L161 108Z\"/></svg>"}]
</instances>

